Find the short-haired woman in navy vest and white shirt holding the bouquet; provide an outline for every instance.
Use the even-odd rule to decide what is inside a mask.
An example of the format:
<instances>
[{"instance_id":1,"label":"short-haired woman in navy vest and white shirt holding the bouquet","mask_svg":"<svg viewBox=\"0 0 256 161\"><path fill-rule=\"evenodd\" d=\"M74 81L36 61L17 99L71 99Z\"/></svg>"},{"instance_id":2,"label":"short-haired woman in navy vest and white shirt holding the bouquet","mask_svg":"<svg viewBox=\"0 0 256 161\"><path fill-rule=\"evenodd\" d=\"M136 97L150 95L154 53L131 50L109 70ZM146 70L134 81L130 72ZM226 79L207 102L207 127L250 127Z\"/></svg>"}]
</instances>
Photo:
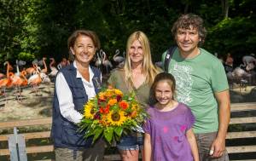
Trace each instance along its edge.
<instances>
[{"instance_id":1,"label":"short-haired woman in navy vest and white shirt holding the bouquet","mask_svg":"<svg viewBox=\"0 0 256 161\"><path fill-rule=\"evenodd\" d=\"M78 125L83 118L84 104L98 93L101 72L90 66L90 60L100 48L95 32L78 30L67 41L74 61L61 68L56 76L51 135L55 146L55 160L103 160L104 141L91 145L84 140Z\"/></svg>"}]
</instances>

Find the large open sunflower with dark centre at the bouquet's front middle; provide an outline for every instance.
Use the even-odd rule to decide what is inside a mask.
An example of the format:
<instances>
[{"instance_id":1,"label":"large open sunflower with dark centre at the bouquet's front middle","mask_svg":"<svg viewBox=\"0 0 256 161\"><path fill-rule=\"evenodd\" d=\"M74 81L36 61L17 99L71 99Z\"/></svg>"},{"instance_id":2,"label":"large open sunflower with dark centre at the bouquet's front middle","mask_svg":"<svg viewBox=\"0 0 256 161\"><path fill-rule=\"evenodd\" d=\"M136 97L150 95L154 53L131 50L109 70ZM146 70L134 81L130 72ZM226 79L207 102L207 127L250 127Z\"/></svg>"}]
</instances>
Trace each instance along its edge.
<instances>
[{"instance_id":1,"label":"large open sunflower with dark centre at the bouquet's front middle","mask_svg":"<svg viewBox=\"0 0 256 161\"><path fill-rule=\"evenodd\" d=\"M113 126L120 126L124 124L125 120L125 112L109 112L107 115L107 123Z\"/></svg>"}]
</instances>

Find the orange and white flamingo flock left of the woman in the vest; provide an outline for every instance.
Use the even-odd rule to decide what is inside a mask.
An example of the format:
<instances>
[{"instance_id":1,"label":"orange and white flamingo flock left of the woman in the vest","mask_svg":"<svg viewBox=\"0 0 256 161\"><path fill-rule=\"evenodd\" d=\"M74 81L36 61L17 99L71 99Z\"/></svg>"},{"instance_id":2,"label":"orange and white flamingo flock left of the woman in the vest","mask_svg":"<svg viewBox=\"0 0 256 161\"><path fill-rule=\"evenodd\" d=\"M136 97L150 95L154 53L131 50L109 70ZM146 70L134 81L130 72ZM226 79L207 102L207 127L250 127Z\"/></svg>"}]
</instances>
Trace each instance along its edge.
<instances>
[{"instance_id":1,"label":"orange and white flamingo flock left of the woman in the vest","mask_svg":"<svg viewBox=\"0 0 256 161\"><path fill-rule=\"evenodd\" d=\"M46 60L46 57L43 57L42 60L33 60L32 65L27 67L24 67L26 66L26 61L16 60L15 70L9 61L5 61L3 68L6 69L6 73L0 73L0 98L3 97L1 101L4 101L4 104L6 104L8 100L7 97L11 95L15 96L15 100L22 101L25 98L25 96L22 95L23 89L29 89L30 87L30 93L39 95L40 84L45 83L50 85L50 83L53 83L57 72L61 67L67 66L69 63L66 58L63 58L57 67L55 67L55 59L49 58L50 62L48 67ZM50 90L47 91L47 93L50 95Z\"/></svg>"}]
</instances>

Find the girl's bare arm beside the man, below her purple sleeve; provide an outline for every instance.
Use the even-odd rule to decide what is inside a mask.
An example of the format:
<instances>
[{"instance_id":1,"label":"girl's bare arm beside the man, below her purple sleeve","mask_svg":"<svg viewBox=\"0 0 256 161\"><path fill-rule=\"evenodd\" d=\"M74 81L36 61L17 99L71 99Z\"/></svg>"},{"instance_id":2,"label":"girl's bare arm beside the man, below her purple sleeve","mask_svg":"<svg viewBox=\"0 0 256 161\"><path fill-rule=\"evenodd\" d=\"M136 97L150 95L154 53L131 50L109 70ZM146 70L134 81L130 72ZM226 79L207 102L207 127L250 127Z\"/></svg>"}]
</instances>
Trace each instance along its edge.
<instances>
[{"instance_id":1,"label":"girl's bare arm beside the man, below her purple sleeve","mask_svg":"<svg viewBox=\"0 0 256 161\"><path fill-rule=\"evenodd\" d=\"M191 151L193 154L194 161L199 161L198 148L195 140L195 135L192 129L187 130L186 132L187 139L189 141L189 145L191 147Z\"/></svg>"}]
</instances>

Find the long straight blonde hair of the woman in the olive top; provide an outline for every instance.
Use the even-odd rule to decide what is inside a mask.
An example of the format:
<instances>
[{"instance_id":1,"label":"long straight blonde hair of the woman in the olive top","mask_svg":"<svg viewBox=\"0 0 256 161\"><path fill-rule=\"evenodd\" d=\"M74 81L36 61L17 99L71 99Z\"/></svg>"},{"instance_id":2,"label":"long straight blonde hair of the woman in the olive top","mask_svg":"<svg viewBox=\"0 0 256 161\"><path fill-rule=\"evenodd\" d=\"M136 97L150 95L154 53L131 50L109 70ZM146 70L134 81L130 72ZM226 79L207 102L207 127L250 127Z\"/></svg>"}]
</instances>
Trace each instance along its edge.
<instances>
[{"instance_id":1,"label":"long straight blonde hair of the woman in the olive top","mask_svg":"<svg viewBox=\"0 0 256 161\"><path fill-rule=\"evenodd\" d=\"M125 81L131 79L131 59L129 56L129 49L131 48L131 44L138 40L143 47L143 69L142 72L146 76L146 83L153 83L154 77L159 73L159 70L154 66L151 60L151 51L150 45L148 41L148 37L144 32L137 31L133 32L127 40L126 44L126 60L125 60Z\"/></svg>"}]
</instances>

